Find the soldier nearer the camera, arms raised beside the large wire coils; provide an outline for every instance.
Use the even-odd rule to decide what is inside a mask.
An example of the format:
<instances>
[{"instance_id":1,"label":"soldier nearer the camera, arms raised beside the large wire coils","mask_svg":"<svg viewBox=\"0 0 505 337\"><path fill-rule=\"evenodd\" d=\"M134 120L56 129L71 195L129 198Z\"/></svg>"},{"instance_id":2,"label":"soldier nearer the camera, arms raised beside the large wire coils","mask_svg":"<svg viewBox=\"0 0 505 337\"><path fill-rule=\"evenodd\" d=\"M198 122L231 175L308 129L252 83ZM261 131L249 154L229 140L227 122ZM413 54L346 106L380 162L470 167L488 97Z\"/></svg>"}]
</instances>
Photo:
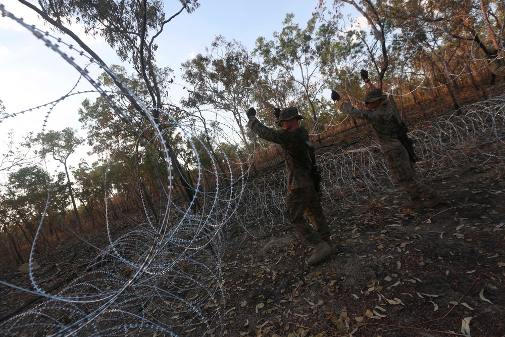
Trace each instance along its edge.
<instances>
[{"instance_id":1,"label":"soldier nearer the camera, arms raised beside the large wire coils","mask_svg":"<svg viewBox=\"0 0 505 337\"><path fill-rule=\"evenodd\" d=\"M271 129L256 118L256 110L247 111L247 126L260 138L279 144L284 152L287 176L286 216L291 225L309 243L314 244L314 253L309 264L321 261L325 256L335 252L330 240L328 222L321 207L321 200L314 185L309 152L306 141L309 132L299 125L303 117L298 115L297 108L275 109L276 123L283 130ZM304 218L311 220L313 226Z\"/></svg>"}]
</instances>

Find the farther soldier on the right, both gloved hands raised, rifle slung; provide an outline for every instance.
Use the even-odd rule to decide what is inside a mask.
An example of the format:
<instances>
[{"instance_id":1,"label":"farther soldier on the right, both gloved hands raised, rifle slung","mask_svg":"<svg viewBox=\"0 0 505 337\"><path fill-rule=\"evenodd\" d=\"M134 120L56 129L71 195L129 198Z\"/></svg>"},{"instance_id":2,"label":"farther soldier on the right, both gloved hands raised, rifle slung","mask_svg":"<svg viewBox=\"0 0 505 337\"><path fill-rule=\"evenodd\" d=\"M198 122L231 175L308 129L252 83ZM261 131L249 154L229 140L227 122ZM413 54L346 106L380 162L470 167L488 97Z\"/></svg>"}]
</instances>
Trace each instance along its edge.
<instances>
[{"instance_id":1,"label":"farther soldier on the right, both gloved hands raised, rifle slung","mask_svg":"<svg viewBox=\"0 0 505 337\"><path fill-rule=\"evenodd\" d=\"M338 92L332 90L331 99L340 104L340 110L347 115L365 119L372 124L377 133L384 161L391 176L407 190L410 201L402 204L405 209L422 210L424 207L433 208L442 202L442 195L433 188L416 180L414 164L409 158L406 148L400 142L396 131L396 125L392 118L394 112L387 102L383 102L387 95L382 93L380 88L376 88L368 78L366 70L361 71L361 77L368 87L365 101L366 110L356 109L347 102L344 102ZM425 199L424 203L422 199Z\"/></svg>"}]
</instances>

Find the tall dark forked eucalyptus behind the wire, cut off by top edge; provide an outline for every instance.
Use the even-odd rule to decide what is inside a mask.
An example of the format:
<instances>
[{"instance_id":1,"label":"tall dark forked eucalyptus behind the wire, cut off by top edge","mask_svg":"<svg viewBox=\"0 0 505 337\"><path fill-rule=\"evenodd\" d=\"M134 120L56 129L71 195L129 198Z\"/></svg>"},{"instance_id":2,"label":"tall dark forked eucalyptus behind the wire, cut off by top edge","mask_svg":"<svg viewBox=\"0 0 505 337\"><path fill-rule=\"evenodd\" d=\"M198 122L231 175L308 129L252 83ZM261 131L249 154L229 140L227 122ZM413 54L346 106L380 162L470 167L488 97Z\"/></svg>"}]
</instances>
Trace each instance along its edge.
<instances>
[{"instance_id":1,"label":"tall dark forked eucalyptus behind the wire, cut off by top edge","mask_svg":"<svg viewBox=\"0 0 505 337\"><path fill-rule=\"evenodd\" d=\"M98 62L108 66L104 60L79 38L71 29L73 18L78 23L83 23L85 33L99 35L116 51L119 58L128 62L143 82L149 105L157 109L152 109L151 114L155 123L160 123L161 108L166 102L163 101L163 92L166 89L163 85L163 78L160 78L159 68L156 66L156 42L168 23L179 16L183 11L192 13L199 7L198 0L173 0L178 3L179 10L172 15L165 12L165 3L159 0L103 0L90 2L88 0L77 0L72 2L52 0L40 0L37 4L32 4L27 0L18 0L21 4L36 12L55 29L58 29L71 37L77 44ZM145 117L145 111L140 107L131 94L123 87L122 83L112 79L113 83L129 101L129 110L133 113ZM126 121L129 122L129 121ZM135 132L135 130L132 130ZM141 138L137 135L137 138ZM143 141L143 139L139 139ZM170 142L166 142L168 156L174 164L174 171L179 177L188 198L194 197L192 186L187 182L177 160L176 154Z\"/></svg>"}]
</instances>

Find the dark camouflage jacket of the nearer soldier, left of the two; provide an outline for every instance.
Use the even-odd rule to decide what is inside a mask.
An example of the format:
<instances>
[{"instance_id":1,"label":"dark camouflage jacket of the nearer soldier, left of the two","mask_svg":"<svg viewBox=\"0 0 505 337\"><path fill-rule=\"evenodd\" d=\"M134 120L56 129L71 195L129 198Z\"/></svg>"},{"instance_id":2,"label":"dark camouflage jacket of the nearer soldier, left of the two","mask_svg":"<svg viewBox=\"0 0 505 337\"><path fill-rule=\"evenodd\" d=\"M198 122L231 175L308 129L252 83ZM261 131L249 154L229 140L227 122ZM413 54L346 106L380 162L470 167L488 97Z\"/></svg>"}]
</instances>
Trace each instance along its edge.
<instances>
[{"instance_id":1,"label":"dark camouflage jacket of the nearer soldier, left of the two","mask_svg":"<svg viewBox=\"0 0 505 337\"><path fill-rule=\"evenodd\" d=\"M306 141L309 132L300 126L297 129L274 130L263 125L256 116L249 117L247 126L258 137L280 144L286 161L287 188L303 188L314 186L311 165L308 161L309 151Z\"/></svg>"}]
</instances>

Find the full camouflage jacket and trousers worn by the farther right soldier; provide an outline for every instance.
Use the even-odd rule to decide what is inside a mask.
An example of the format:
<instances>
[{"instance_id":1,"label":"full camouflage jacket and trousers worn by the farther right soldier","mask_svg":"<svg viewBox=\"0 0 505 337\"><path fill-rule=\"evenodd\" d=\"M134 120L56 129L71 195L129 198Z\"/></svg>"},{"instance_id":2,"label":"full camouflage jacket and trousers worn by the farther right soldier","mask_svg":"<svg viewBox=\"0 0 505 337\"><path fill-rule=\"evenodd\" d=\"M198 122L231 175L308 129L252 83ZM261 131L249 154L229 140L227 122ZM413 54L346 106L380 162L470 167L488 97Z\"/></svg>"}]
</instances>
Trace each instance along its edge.
<instances>
[{"instance_id":1,"label":"full camouflage jacket and trousers worn by the farther right soldier","mask_svg":"<svg viewBox=\"0 0 505 337\"><path fill-rule=\"evenodd\" d=\"M377 90L372 85L372 90ZM387 96L383 95L382 99ZM414 164L409 159L409 153L403 147L398 138L398 135L393 131L395 124L391 121L394 118L394 112L386 101L382 106L374 110L356 109L347 102L342 103L340 110L347 115L356 118L365 119L374 128L380 143L381 150L384 154L389 172L393 178L409 192L411 200L415 198L431 198L435 194L435 190L421 181L416 180Z\"/></svg>"}]
</instances>

